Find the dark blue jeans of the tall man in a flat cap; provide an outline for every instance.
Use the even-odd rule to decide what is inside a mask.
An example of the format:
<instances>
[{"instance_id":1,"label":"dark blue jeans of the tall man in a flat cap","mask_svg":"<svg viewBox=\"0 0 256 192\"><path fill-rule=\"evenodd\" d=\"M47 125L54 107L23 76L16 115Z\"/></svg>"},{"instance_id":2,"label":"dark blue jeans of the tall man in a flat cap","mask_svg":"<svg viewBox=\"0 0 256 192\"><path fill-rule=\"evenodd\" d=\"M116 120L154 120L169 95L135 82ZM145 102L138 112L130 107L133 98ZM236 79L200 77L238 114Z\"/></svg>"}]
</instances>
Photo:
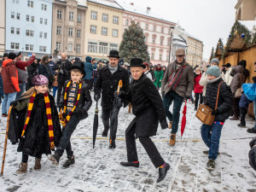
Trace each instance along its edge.
<instances>
[{"instance_id":1,"label":"dark blue jeans of the tall man in a flat cap","mask_svg":"<svg viewBox=\"0 0 256 192\"><path fill-rule=\"evenodd\" d=\"M172 105L172 101L174 101L174 104L173 104L173 110L171 113L169 108ZM175 91L170 90L168 93L166 93L166 96L164 96L163 103L164 103L164 108L166 112L166 117L169 119L169 121L172 121L171 133L176 134L178 122L179 122L179 111L183 104L183 97L177 95Z\"/></svg>"}]
</instances>

